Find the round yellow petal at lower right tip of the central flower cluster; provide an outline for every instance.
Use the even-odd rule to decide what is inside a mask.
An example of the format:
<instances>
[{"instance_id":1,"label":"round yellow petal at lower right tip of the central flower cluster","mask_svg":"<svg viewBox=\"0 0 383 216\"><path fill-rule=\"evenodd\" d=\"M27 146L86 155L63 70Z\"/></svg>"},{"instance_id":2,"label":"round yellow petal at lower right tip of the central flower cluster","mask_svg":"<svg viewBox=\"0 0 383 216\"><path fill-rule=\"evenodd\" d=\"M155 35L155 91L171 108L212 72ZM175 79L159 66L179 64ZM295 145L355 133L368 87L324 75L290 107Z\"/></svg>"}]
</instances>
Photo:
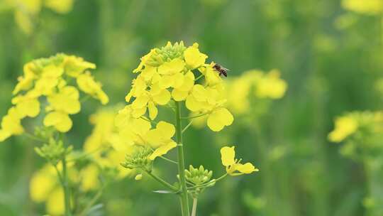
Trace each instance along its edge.
<instances>
[{"instance_id":1,"label":"round yellow petal at lower right tip of the central flower cluster","mask_svg":"<svg viewBox=\"0 0 383 216\"><path fill-rule=\"evenodd\" d=\"M212 131L221 131L233 123L233 115L226 108L219 108L209 114L207 125Z\"/></svg>"}]
</instances>

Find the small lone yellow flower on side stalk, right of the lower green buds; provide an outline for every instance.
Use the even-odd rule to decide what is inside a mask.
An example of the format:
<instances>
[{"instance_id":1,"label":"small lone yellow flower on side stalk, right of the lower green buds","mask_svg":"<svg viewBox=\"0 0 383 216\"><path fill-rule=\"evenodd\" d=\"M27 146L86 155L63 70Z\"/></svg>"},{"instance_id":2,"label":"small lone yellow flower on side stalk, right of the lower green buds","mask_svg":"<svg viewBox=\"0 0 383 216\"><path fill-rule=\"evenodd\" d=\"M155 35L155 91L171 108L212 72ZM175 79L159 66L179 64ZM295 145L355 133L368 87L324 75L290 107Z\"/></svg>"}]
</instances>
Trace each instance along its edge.
<instances>
[{"instance_id":1,"label":"small lone yellow flower on side stalk, right of the lower green buds","mask_svg":"<svg viewBox=\"0 0 383 216\"><path fill-rule=\"evenodd\" d=\"M252 163L240 163L241 160L235 159L234 146L225 146L221 148L221 160L223 166L226 166L226 172L229 175L243 175L259 171ZM236 172L238 171L238 172Z\"/></svg>"}]
</instances>

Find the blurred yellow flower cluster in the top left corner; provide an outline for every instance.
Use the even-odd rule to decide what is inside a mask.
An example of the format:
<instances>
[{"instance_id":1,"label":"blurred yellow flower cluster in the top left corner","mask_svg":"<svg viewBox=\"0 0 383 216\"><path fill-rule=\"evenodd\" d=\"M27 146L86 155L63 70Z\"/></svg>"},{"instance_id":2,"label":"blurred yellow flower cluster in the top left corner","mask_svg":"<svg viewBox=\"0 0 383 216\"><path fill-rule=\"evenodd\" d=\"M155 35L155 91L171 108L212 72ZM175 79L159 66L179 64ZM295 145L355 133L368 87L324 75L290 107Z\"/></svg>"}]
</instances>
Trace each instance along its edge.
<instances>
[{"instance_id":1,"label":"blurred yellow flower cluster in the top left corner","mask_svg":"<svg viewBox=\"0 0 383 216\"><path fill-rule=\"evenodd\" d=\"M56 13L69 13L74 0L5 0L5 3L14 10L14 18L21 31L30 34L33 32L33 22L43 7Z\"/></svg>"}]
</instances>

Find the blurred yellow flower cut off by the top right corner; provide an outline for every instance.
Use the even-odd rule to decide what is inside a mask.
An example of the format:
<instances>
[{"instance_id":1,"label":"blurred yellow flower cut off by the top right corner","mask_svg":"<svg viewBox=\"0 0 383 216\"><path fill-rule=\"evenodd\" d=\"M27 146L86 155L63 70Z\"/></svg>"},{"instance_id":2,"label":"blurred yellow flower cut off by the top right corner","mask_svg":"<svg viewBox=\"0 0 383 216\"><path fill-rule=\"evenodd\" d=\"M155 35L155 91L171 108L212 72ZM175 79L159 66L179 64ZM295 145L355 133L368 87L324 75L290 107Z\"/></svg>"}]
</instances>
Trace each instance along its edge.
<instances>
[{"instance_id":1,"label":"blurred yellow flower cut off by the top right corner","mask_svg":"<svg viewBox=\"0 0 383 216\"><path fill-rule=\"evenodd\" d=\"M350 11L378 15L383 11L382 0L343 0L342 6Z\"/></svg>"}]
</instances>

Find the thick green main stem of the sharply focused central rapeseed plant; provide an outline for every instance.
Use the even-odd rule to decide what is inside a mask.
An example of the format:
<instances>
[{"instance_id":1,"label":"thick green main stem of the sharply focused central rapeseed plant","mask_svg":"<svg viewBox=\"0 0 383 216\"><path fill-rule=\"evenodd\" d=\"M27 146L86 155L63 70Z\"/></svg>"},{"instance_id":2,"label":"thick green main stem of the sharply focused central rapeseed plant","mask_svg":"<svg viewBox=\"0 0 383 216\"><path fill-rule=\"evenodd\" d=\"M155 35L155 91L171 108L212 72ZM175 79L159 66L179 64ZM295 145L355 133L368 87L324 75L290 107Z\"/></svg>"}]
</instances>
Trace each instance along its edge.
<instances>
[{"instance_id":1,"label":"thick green main stem of the sharply focused central rapeseed plant","mask_svg":"<svg viewBox=\"0 0 383 216\"><path fill-rule=\"evenodd\" d=\"M182 125L181 125L181 107L179 102L175 102L175 116L176 116L176 138L177 138L177 153L178 153L178 175L179 184L181 186L180 202L182 216L189 216L189 200L187 194L187 184L185 180L185 161L184 161L184 146L182 143Z\"/></svg>"}]
</instances>

